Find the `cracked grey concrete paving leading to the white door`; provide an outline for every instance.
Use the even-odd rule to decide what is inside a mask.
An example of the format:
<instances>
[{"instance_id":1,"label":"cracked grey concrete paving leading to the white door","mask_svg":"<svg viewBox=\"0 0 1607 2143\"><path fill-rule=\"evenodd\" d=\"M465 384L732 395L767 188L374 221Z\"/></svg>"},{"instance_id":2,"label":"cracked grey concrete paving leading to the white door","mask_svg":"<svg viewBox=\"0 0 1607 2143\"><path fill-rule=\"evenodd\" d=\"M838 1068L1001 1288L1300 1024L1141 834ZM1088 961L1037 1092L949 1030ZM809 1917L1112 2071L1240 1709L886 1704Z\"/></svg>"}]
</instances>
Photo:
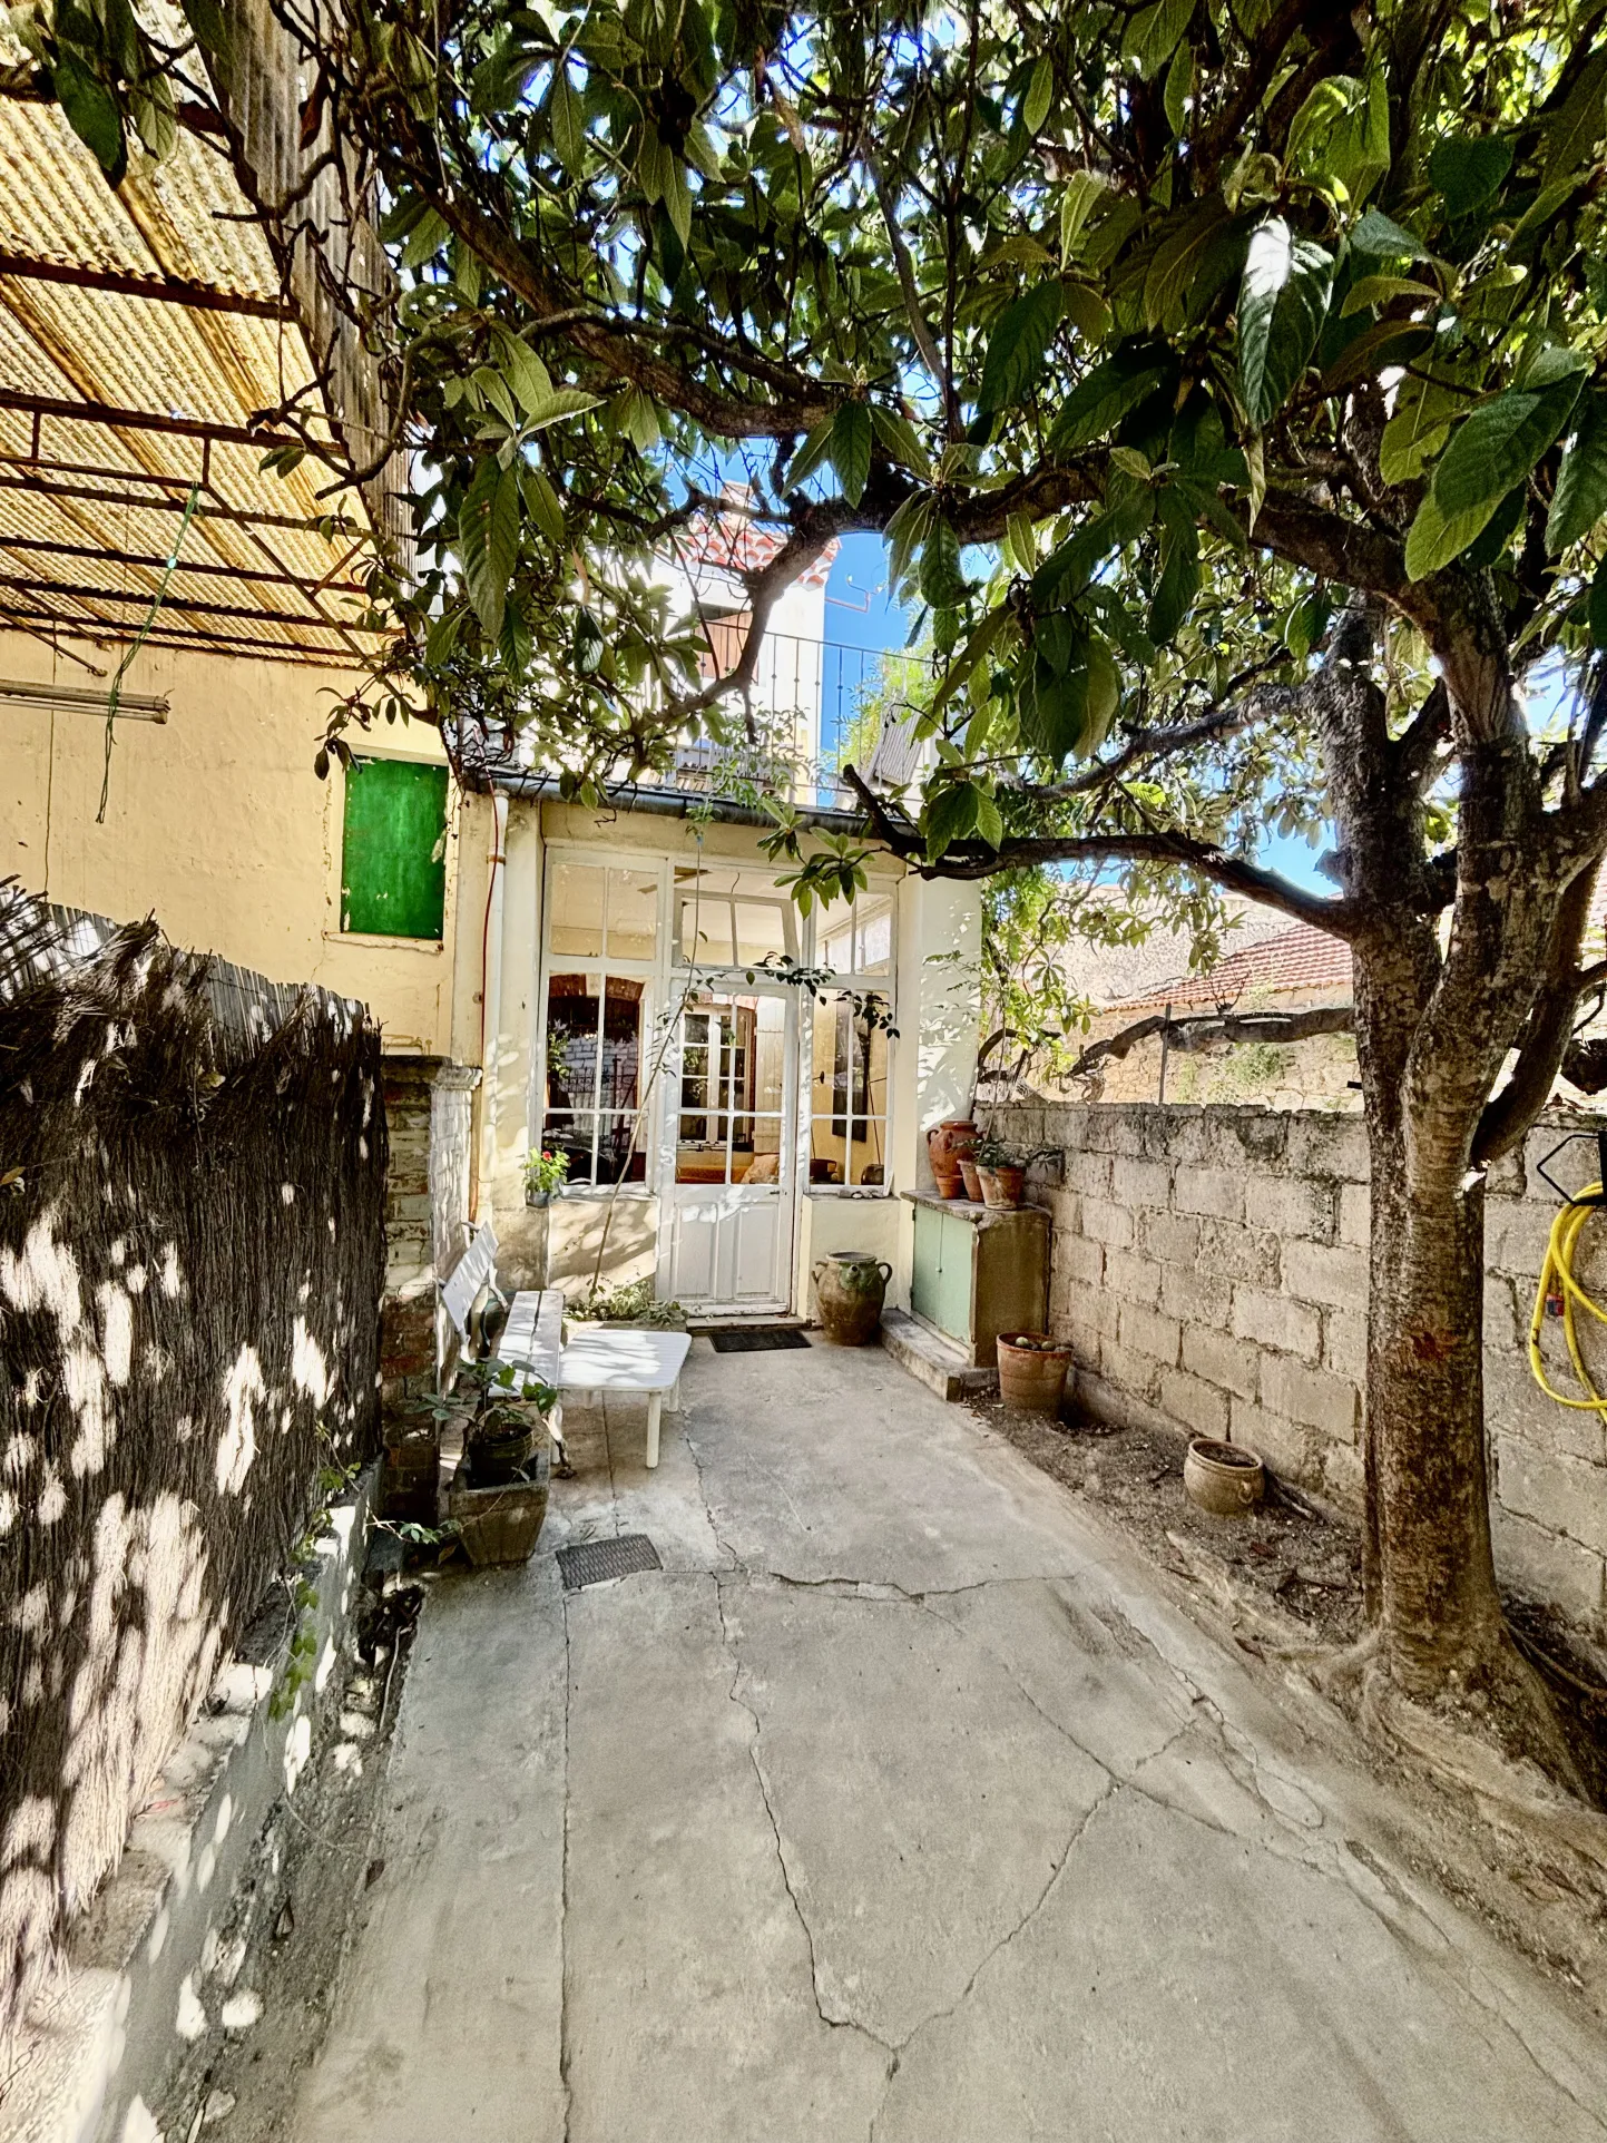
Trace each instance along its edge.
<instances>
[{"instance_id":1,"label":"cracked grey concrete paving leading to the white door","mask_svg":"<svg viewBox=\"0 0 1607 2143\"><path fill-rule=\"evenodd\" d=\"M876 1352L684 1389L433 1592L294 2143L1607 2139L1592 2021L1056 1483Z\"/></svg>"}]
</instances>

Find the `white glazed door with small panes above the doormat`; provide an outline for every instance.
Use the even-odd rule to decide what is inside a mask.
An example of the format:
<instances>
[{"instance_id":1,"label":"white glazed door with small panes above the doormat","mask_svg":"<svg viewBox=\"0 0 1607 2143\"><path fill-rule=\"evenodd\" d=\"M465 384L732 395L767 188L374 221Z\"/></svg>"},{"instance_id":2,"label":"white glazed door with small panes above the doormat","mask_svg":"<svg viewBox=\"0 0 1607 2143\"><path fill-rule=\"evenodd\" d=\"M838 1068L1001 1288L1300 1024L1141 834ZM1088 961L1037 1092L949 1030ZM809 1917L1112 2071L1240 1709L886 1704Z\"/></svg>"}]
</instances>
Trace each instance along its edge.
<instances>
[{"instance_id":1,"label":"white glazed door with small panes above the doormat","mask_svg":"<svg viewBox=\"0 0 1607 2143\"><path fill-rule=\"evenodd\" d=\"M660 1299L705 1316L786 1309L797 1211L797 990L690 990L666 1072Z\"/></svg>"}]
</instances>

